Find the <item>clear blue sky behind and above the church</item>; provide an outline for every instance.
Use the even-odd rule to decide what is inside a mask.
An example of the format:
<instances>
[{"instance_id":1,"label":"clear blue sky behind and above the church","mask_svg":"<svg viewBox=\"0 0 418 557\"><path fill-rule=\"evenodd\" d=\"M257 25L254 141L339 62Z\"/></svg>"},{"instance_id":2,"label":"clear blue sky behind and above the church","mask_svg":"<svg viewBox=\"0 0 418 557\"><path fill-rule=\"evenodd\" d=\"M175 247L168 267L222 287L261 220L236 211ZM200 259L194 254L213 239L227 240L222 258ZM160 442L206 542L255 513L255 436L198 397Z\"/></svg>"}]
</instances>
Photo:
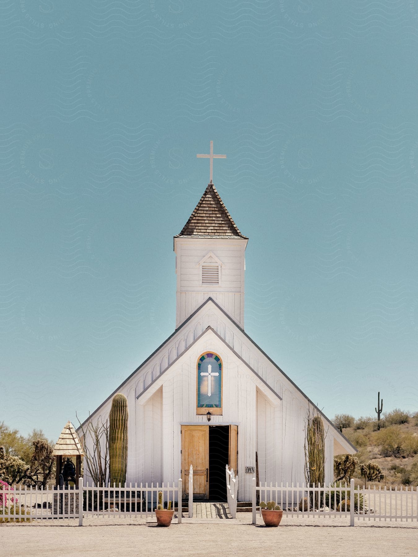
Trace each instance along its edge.
<instances>
[{"instance_id":1,"label":"clear blue sky behind and above the church","mask_svg":"<svg viewBox=\"0 0 418 557\"><path fill-rule=\"evenodd\" d=\"M324 412L418 409L415 2L0 8L0 419L56 438L172 333L208 182L246 332Z\"/></svg>"}]
</instances>

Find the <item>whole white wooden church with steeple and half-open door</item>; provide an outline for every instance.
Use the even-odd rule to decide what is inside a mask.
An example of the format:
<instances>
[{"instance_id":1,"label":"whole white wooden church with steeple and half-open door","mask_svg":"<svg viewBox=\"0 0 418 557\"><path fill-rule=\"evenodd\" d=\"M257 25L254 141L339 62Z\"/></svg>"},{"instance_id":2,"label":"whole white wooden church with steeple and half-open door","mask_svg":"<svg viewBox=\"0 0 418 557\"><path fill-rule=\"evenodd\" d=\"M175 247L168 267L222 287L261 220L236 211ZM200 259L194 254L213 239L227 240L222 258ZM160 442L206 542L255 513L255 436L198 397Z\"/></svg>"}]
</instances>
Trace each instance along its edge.
<instances>
[{"instance_id":1,"label":"whole white wooden church with steeple and half-open door","mask_svg":"<svg viewBox=\"0 0 418 557\"><path fill-rule=\"evenodd\" d=\"M195 499L225 500L229 464L239 501L250 501L256 460L261 482L305 481L305 420L315 405L244 330L247 242L211 180L174 236L173 334L89 418L106 419L113 394L127 397L128 485L182 477L186 494L192 464ZM333 456L356 448L317 411L328 483Z\"/></svg>"}]
</instances>

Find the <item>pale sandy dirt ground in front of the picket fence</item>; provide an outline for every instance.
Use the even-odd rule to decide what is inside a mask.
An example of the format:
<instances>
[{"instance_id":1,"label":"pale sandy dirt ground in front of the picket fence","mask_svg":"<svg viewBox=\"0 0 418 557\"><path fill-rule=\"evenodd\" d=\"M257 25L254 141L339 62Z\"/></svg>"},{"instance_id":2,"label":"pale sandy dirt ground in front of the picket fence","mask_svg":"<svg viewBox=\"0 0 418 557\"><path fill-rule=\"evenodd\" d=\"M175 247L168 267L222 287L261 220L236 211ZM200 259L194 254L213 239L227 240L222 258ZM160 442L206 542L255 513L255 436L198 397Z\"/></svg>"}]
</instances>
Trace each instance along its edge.
<instances>
[{"instance_id":1,"label":"pale sandy dirt ground in front of the picket fence","mask_svg":"<svg viewBox=\"0 0 418 557\"><path fill-rule=\"evenodd\" d=\"M174 522L176 519L174 519ZM375 555L418 556L417 522L365 522L347 526L347 519L298 519L283 517L278 528L266 528L262 520L251 525L250 513L236 520L203 522L188 520L158 528L144 519L84 519L42 524L0 526L2 557L39 555ZM278 553L279 551L279 553Z\"/></svg>"}]
</instances>

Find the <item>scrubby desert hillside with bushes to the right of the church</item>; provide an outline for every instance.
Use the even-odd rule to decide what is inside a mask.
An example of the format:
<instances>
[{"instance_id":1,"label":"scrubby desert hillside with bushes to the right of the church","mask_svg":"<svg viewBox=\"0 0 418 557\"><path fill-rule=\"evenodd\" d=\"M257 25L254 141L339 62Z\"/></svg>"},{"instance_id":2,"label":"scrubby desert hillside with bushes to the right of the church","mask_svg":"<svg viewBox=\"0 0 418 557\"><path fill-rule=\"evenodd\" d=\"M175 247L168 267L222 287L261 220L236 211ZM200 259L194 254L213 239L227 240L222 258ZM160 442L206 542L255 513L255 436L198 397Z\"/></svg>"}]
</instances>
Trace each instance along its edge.
<instances>
[{"instance_id":1,"label":"scrubby desert hillside with bushes to the right of the church","mask_svg":"<svg viewBox=\"0 0 418 557\"><path fill-rule=\"evenodd\" d=\"M418 485L418 412L395 409L383 414L380 429L376 418L356 419L349 414L339 414L334 424L358 448L358 463L352 476L356 482L387 487ZM361 463L368 462L381 468L381 481L364 481Z\"/></svg>"}]
</instances>

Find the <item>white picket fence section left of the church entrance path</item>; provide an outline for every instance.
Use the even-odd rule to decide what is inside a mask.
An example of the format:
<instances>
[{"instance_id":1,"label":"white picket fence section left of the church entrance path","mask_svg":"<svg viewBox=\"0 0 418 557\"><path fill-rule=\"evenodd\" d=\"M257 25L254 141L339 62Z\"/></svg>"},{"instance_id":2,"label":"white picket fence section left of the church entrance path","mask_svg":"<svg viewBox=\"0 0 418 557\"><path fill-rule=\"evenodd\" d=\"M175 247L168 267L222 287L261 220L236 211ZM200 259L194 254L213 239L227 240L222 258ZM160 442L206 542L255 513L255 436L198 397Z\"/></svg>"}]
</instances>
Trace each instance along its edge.
<instances>
[{"instance_id":1,"label":"white picket fence section left of the church entrance path","mask_svg":"<svg viewBox=\"0 0 418 557\"><path fill-rule=\"evenodd\" d=\"M38 488L23 488L16 486L13 490L1 491L0 523L5 520L35 519L79 519L82 526L83 515L107 517L140 516L154 519L158 505L158 492L163 494L163 507L167 509L168 501L172 502L172 509L176 511L177 522L182 521L182 480L178 485L161 486L153 483L149 486L137 483L124 487L83 485L80 478L78 487L61 487L59 489L43 490ZM8 499L6 505L6 498ZM13 498L13 501L12 501Z\"/></svg>"}]
</instances>

